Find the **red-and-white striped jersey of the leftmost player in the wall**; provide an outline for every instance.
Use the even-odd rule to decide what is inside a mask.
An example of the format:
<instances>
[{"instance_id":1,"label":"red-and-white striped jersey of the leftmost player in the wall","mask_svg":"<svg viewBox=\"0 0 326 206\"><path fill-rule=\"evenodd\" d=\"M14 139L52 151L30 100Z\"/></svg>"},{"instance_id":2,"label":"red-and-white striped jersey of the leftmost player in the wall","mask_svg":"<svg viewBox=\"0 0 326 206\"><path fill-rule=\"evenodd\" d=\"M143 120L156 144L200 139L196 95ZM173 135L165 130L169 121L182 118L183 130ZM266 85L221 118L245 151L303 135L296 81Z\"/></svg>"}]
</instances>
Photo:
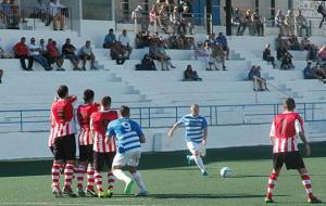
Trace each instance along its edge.
<instances>
[{"instance_id":1,"label":"red-and-white striped jersey of the leftmost player in the wall","mask_svg":"<svg viewBox=\"0 0 326 206\"><path fill-rule=\"evenodd\" d=\"M76 133L73 103L76 96L60 99L51 106L51 116L54 119L53 138Z\"/></svg>"}]
</instances>

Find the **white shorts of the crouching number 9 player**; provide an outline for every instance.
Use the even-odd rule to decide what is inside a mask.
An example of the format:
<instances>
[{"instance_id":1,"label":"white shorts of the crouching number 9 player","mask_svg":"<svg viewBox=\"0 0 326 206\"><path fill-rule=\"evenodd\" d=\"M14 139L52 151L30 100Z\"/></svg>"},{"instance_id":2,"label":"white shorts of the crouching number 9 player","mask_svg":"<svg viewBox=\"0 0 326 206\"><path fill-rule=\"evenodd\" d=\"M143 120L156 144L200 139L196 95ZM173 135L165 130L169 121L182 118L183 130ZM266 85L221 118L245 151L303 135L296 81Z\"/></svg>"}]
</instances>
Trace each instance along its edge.
<instances>
[{"instance_id":1,"label":"white shorts of the crouching number 9 player","mask_svg":"<svg viewBox=\"0 0 326 206\"><path fill-rule=\"evenodd\" d=\"M113 158L112 166L131 166L137 167L140 159L140 151L126 154L116 153Z\"/></svg>"}]
</instances>

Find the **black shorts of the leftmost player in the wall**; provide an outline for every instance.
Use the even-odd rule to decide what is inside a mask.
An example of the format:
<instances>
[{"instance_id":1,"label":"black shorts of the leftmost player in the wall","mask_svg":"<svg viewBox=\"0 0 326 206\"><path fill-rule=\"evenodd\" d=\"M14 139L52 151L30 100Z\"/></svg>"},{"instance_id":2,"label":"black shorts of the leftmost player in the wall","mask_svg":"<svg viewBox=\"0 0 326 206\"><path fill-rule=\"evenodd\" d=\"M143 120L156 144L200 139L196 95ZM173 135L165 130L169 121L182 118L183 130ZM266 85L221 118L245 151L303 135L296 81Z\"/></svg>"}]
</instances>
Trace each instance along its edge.
<instances>
[{"instance_id":1,"label":"black shorts of the leftmost player in the wall","mask_svg":"<svg viewBox=\"0 0 326 206\"><path fill-rule=\"evenodd\" d=\"M63 136L54 139L53 154L55 160L75 160L76 140L75 134Z\"/></svg>"}]
</instances>

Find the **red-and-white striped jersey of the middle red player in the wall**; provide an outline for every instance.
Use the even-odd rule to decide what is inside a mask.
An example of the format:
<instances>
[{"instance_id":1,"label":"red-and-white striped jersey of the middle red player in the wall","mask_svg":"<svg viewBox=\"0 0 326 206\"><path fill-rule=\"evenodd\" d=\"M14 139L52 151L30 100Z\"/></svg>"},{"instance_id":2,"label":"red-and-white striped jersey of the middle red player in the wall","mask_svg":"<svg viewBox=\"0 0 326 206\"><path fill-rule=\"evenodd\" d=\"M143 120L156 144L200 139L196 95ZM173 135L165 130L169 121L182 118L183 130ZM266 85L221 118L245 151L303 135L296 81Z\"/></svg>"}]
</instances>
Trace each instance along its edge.
<instances>
[{"instance_id":1,"label":"red-and-white striped jersey of the middle red player in the wall","mask_svg":"<svg viewBox=\"0 0 326 206\"><path fill-rule=\"evenodd\" d=\"M99 104L83 104L77 108L77 119L80 127L80 132L78 134L79 145L92 144L92 137L90 136L90 115L99 111Z\"/></svg>"}]
</instances>

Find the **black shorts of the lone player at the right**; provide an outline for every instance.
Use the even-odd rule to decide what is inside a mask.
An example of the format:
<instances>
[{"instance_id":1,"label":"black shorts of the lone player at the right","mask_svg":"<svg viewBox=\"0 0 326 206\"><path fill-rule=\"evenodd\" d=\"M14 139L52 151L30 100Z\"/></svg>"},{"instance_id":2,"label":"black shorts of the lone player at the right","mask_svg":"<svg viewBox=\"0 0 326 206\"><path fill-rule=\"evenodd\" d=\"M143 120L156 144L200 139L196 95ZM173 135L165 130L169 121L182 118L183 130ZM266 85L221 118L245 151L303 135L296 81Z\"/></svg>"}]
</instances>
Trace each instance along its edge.
<instances>
[{"instance_id":1,"label":"black shorts of the lone player at the right","mask_svg":"<svg viewBox=\"0 0 326 206\"><path fill-rule=\"evenodd\" d=\"M279 169L283 165L286 165L287 169L302 169L305 168L303 159L299 151L274 153L273 154L273 168Z\"/></svg>"}]
</instances>

